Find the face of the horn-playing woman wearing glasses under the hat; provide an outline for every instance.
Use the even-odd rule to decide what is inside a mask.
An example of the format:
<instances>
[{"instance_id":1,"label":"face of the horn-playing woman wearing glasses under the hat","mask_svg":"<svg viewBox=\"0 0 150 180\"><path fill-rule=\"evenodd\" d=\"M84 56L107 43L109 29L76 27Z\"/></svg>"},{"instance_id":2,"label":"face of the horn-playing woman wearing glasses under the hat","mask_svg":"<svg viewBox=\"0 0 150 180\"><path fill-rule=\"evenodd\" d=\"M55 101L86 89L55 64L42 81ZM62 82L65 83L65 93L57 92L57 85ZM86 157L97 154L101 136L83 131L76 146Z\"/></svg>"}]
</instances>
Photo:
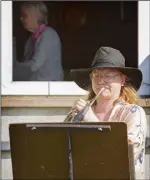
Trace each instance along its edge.
<instances>
[{"instance_id":1,"label":"face of the horn-playing woman wearing glasses under the hat","mask_svg":"<svg viewBox=\"0 0 150 180\"><path fill-rule=\"evenodd\" d=\"M97 94L103 87L105 90L101 96L105 99L118 98L121 86L124 85L126 76L117 69L95 69L91 75L92 89Z\"/></svg>"}]
</instances>

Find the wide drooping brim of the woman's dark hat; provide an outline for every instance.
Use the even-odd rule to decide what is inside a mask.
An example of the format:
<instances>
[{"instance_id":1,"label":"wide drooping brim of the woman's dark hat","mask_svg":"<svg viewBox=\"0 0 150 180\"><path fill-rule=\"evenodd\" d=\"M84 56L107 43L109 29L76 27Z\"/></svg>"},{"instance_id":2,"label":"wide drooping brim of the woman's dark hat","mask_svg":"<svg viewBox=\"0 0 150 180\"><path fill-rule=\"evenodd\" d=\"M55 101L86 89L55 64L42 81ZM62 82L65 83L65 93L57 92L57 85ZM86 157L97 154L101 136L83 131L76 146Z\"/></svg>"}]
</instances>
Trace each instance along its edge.
<instances>
[{"instance_id":1,"label":"wide drooping brim of the woman's dark hat","mask_svg":"<svg viewBox=\"0 0 150 180\"><path fill-rule=\"evenodd\" d=\"M104 68L104 67L96 67L96 68ZM107 67L108 68L108 67ZM131 67L111 67L113 69L118 69L120 72L125 74L128 77L128 83L131 84L136 91L141 86L142 82L142 72L138 68ZM72 76L73 81L82 89L88 90L89 85L91 84L90 73L95 68L81 68L81 69L72 69L70 74Z\"/></svg>"}]
</instances>

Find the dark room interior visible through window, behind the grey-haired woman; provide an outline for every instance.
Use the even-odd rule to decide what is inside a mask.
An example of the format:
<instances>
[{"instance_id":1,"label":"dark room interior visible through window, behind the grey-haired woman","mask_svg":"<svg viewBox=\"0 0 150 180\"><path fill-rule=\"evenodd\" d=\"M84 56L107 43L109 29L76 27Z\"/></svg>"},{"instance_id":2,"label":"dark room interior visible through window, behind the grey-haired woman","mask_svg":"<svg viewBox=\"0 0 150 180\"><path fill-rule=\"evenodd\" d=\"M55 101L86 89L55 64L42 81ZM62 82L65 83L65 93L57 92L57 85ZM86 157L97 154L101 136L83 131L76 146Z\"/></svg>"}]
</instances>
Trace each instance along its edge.
<instances>
[{"instance_id":1,"label":"dark room interior visible through window, behind the grey-haired woman","mask_svg":"<svg viewBox=\"0 0 150 180\"><path fill-rule=\"evenodd\" d=\"M13 2L13 30L17 41L17 57L22 59L23 47L29 33L19 20L19 6ZM92 1L50 2L49 25L62 42L64 69L88 67L100 46L119 49L127 66L137 66L138 27L137 2ZM81 19L86 19L81 25Z\"/></svg>"}]
</instances>

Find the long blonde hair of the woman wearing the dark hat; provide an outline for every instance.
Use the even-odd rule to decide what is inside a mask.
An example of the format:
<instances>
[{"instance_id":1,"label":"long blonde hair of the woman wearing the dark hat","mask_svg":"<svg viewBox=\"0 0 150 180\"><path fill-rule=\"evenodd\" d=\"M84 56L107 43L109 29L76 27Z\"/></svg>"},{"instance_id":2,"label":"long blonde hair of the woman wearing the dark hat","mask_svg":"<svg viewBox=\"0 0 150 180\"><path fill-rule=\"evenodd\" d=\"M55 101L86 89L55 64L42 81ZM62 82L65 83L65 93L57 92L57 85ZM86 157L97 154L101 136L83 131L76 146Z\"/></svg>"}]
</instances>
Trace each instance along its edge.
<instances>
[{"instance_id":1,"label":"long blonde hair of the woman wearing the dark hat","mask_svg":"<svg viewBox=\"0 0 150 180\"><path fill-rule=\"evenodd\" d=\"M90 101L91 99L94 98L94 96L95 96L95 93L92 89L92 86L90 85L87 100ZM130 84L125 84L124 86L121 87L120 96L117 100L114 101L114 104L118 100L124 100L128 104L139 104L139 99L140 99L140 96L138 96L134 87Z\"/></svg>"}]
</instances>

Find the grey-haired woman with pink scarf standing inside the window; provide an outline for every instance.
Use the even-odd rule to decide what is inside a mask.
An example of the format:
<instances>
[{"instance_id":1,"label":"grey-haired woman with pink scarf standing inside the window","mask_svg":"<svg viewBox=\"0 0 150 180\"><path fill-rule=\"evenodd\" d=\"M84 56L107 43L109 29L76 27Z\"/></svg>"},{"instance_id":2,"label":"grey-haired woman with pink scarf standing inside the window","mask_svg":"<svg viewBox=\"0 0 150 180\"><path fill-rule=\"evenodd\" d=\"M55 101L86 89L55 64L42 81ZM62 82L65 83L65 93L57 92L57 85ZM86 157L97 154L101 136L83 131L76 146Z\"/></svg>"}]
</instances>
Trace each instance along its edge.
<instances>
[{"instance_id":1,"label":"grey-haired woman with pink scarf standing inside the window","mask_svg":"<svg viewBox=\"0 0 150 180\"><path fill-rule=\"evenodd\" d=\"M20 73L16 80L62 81L61 42L57 32L47 26L48 10L40 1L28 1L21 5L20 20L31 32L24 50L24 61L16 63Z\"/></svg>"}]
</instances>

